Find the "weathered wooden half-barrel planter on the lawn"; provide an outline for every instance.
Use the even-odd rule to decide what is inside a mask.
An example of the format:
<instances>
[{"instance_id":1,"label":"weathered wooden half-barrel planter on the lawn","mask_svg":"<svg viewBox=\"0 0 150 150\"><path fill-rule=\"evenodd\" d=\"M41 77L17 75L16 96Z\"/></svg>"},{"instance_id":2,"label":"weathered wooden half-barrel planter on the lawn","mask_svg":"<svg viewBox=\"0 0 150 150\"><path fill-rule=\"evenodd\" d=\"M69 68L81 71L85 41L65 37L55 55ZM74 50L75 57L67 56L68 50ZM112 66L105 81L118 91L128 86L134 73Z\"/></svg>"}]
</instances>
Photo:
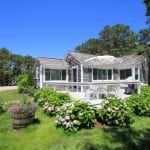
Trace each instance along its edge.
<instances>
[{"instance_id":1,"label":"weathered wooden half-barrel planter on the lawn","mask_svg":"<svg viewBox=\"0 0 150 150\"><path fill-rule=\"evenodd\" d=\"M21 129L25 128L28 124L33 122L35 110L28 112L13 112L12 113L12 128Z\"/></svg>"}]
</instances>

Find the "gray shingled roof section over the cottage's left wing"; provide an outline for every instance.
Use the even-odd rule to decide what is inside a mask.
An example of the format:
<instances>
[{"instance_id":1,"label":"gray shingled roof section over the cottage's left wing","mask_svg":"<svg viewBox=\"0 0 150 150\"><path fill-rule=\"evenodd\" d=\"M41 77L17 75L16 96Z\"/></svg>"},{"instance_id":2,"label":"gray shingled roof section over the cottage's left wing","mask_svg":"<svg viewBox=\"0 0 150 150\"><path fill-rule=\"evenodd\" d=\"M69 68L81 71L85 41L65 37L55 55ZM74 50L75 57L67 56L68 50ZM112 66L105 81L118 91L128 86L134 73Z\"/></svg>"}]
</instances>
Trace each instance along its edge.
<instances>
[{"instance_id":1,"label":"gray shingled roof section over the cottage's left wing","mask_svg":"<svg viewBox=\"0 0 150 150\"><path fill-rule=\"evenodd\" d=\"M50 68L68 68L68 64L64 59L56 59L56 58L46 58L39 57L37 58L42 66L50 67Z\"/></svg>"}]
</instances>

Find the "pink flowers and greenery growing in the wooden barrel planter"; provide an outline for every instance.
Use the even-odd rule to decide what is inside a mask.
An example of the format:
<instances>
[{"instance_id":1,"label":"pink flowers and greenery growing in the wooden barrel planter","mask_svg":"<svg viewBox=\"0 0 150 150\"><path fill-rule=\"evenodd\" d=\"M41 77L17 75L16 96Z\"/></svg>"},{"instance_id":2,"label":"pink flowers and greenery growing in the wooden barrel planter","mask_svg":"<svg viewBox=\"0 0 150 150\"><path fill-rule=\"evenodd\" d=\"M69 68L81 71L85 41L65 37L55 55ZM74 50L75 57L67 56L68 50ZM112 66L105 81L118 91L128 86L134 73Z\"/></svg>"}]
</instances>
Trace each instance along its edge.
<instances>
[{"instance_id":1,"label":"pink flowers and greenery growing in the wooden barrel planter","mask_svg":"<svg viewBox=\"0 0 150 150\"><path fill-rule=\"evenodd\" d=\"M11 113L21 113L21 112L32 112L35 111L37 107L32 103L27 97L22 97L21 100L17 101L15 105L9 108Z\"/></svg>"}]
</instances>

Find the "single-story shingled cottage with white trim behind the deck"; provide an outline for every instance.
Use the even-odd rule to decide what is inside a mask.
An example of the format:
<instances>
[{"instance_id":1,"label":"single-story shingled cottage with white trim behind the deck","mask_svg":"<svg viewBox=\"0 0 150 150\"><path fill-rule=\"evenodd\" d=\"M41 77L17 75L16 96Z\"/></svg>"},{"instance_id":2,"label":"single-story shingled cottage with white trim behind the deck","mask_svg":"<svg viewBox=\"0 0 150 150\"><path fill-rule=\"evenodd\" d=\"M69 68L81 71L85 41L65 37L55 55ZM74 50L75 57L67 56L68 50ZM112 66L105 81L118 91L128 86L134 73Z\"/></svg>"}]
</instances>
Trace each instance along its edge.
<instances>
[{"instance_id":1,"label":"single-story shingled cottage with white trim behind the deck","mask_svg":"<svg viewBox=\"0 0 150 150\"><path fill-rule=\"evenodd\" d=\"M143 82L142 55L95 56L69 52L65 59L39 57L34 66L36 87L84 91L90 86Z\"/></svg>"}]
</instances>

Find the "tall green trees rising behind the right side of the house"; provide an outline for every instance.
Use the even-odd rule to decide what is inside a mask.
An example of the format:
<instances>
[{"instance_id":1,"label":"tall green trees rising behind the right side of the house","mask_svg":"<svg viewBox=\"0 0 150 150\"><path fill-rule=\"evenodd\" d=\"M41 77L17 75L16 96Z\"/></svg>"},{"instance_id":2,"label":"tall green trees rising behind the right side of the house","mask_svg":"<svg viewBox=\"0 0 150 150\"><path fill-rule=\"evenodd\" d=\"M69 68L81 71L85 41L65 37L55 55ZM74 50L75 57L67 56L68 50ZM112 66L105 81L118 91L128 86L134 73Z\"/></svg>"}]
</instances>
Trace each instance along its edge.
<instances>
[{"instance_id":1,"label":"tall green trees rising behind the right side of the house","mask_svg":"<svg viewBox=\"0 0 150 150\"><path fill-rule=\"evenodd\" d=\"M138 34L129 26L116 24L106 25L99 33L99 38L91 38L77 46L75 51L93 55L110 54L123 56L133 53L142 53L145 50L146 38L150 29L140 30Z\"/></svg>"}]
</instances>

